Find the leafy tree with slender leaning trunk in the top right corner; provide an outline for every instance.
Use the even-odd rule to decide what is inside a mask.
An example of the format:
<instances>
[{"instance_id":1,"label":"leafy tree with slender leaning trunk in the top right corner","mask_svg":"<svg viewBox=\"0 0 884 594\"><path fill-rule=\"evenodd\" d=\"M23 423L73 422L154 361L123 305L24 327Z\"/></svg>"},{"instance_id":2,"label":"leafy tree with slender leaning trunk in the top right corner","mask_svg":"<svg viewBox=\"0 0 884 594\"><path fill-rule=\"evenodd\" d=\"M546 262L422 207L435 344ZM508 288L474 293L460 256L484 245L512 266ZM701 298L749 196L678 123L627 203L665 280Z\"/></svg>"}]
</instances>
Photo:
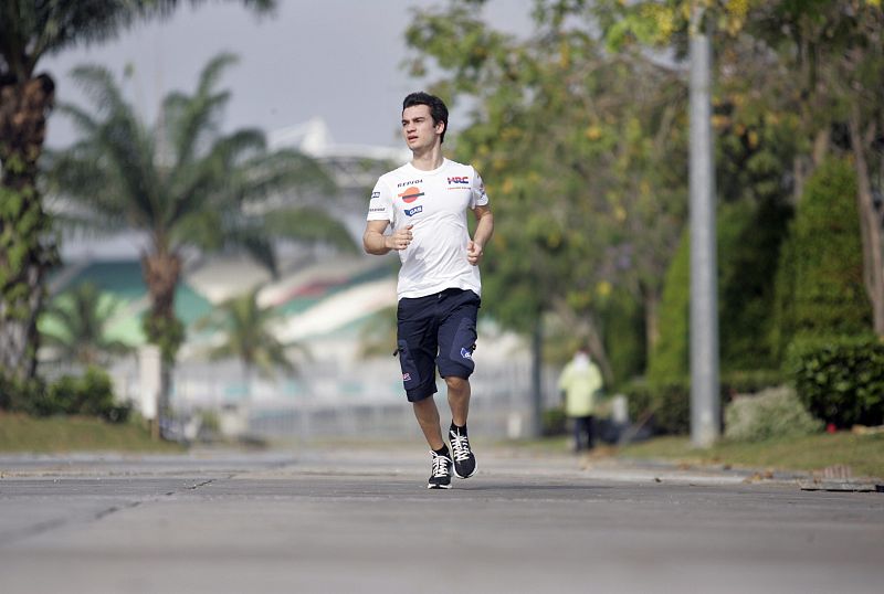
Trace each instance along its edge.
<instances>
[{"instance_id":1,"label":"leafy tree with slender leaning trunk in the top right corner","mask_svg":"<svg viewBox=\"0 0 884 594\"><path fill-rule=\"evenodd\" d=\"M871 326L884 336L884 236L873 198L884 174L884 8L880 0L779 0L746 17L745 31L777 57L791 88L785 96L800 114L796 195L829 153L853 157L863 284Z\"/></svg>"}]
</instances>

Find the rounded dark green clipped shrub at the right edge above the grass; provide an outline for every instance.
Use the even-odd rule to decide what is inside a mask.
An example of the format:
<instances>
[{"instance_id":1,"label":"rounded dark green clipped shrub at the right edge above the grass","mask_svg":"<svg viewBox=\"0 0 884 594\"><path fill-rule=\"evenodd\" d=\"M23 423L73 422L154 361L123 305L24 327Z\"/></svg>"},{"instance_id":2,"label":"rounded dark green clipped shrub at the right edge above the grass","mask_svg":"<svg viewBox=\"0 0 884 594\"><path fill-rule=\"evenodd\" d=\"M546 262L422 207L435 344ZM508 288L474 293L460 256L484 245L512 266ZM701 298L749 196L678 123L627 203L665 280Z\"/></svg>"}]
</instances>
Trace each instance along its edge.
<instances>
[{"instance_id":1,"label":"rounded dark green clipped shrub at the right edge above the grass","mask_svg":"<svg viewBox=\"0 0 884 594\"><path fill-rule=\"evenodd\" d=\"M787 374L818 418L836 427L884 423L884 344L874 338L796 340Z\"/></svg>"}]
</instances>

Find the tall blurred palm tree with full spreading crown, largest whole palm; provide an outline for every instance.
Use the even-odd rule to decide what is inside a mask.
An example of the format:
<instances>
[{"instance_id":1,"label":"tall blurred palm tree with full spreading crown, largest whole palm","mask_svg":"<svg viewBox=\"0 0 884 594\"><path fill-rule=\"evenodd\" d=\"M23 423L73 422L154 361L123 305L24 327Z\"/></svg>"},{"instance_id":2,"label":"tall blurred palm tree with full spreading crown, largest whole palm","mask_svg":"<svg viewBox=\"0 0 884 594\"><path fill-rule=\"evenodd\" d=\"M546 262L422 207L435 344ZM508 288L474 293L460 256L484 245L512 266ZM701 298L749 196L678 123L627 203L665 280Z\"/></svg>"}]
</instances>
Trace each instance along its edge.
<instances>
[{"instance_id":1,"label":"tall blurred palm tree with full spreading crown, largest whole palm","mask_svg":"<svg viewBox=\"0 0 884 594\"><path fill-rule=\"evenodd\" d=\"M260 130L221 132L230 93L215 86L234 60L230 54L211 60L196 92L169 94L152 126L137 117L106 70L76 68L73 76L92 97L95 112L64 106L83 137L50 156L52 188L82 209L77 223L105 232L127 226L148 237L141 253L150 299L145 333L159 346L166 363L164 396L185 337L173 310L185 250L243 248L274 274L274 238L355 251L344 224L318 208L262 208L267 197L296 187L332 194L334 183L303 153L269 152Z\"/></svg>"}]
</instances>

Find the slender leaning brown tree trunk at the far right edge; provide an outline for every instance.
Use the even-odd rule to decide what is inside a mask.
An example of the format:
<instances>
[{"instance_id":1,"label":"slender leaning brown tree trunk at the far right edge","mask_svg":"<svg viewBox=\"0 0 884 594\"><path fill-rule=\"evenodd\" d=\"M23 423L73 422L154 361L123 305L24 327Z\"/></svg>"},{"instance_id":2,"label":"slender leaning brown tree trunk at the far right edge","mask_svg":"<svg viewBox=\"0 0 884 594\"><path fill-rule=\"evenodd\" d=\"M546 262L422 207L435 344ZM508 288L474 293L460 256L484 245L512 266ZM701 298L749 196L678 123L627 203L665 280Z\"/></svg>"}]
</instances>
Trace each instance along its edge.
<instances>
[{"instance_id":1,"label":"slender leaning brown tree trunk at the far right edge","mask_svg":"<svg viewBox=\"0 0 884 594\"><path fill-rule=\"evenodd\" d=\"M884 256L881 243L881 220L872 202L872 183L869 179L869 163L865 147L875 136L875 125L871 124L863 135L860 107L851 106L850 137L856 168L856 202L860 210L860 229L863 242L863 282L869 299L872 301L872 319L875 333L884 337Z\"/></svg>"}]
</instances>

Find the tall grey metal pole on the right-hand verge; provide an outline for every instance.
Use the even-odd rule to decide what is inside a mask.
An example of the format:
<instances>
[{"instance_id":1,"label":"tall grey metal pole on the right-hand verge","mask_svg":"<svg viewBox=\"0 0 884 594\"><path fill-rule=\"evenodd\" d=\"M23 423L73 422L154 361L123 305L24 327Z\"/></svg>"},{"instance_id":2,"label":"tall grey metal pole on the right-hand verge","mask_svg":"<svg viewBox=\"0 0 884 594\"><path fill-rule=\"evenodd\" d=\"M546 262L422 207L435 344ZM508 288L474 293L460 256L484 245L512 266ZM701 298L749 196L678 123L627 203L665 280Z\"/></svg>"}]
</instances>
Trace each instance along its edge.
<instances>
[{"instance_id":1,"label":"tall grey metal pole on the right-hand verge","mask_svg":"<svg viewBox=\"0 0 884 594\"><path fill-rule=\"evenodd\" d=\"M715 147L712 136L712 40L705 9L694 0L691 23L691 441L719 435L718 289Z\"/></svg>"}]
</instances>

